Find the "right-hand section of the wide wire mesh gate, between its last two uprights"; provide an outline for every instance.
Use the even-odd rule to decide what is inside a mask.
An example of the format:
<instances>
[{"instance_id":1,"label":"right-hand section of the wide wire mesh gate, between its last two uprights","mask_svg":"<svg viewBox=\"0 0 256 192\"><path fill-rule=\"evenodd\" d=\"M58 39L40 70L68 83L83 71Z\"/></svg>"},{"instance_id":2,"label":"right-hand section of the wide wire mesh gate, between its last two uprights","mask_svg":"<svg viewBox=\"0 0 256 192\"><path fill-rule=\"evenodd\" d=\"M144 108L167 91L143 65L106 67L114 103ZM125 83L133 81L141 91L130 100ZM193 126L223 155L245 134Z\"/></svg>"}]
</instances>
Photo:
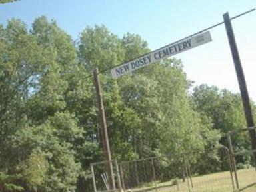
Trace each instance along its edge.
<instances>
[{"instance_id":1,"label":"right-hand section of the wide wire mesh gate, between its last two uprights","mask_svg":"<svg viewBox=\"0 0 256 192\"><path fill-rule=\"evenodd\" d=\"M228 149L199 151L196 155L186 155L191 191L234 191Z\"/></svg>"}]
</instances>

